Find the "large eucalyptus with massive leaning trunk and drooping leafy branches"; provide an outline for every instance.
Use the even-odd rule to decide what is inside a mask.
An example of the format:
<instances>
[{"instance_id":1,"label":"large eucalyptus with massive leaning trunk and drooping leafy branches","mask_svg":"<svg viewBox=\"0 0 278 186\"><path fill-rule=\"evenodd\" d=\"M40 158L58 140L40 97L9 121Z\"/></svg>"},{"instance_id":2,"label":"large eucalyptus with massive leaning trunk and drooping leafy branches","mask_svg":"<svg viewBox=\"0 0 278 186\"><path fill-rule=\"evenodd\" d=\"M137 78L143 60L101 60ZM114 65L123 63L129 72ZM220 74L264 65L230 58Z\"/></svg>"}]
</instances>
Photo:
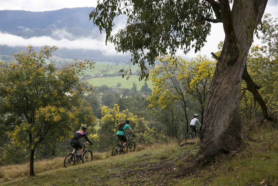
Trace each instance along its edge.
<instances>
[{"instance_id":1,"label":"large eucalyptus with massive leaning trunk and drooping leafy branches","mask_svg":"<svg viewBox=\"0 0 278 186\"><path fill-rule=\"evenodd\" d=\"M245 74L250 80L246 59L266 4L267 0L107 0L98 1L89 16L106 32L106 42L132 54L141 79L148 77L148 65L154 65L157 56L174 55L177 49L196 52L209 34L218 34L211 33L211 23L223 24L224 44L208 94L201 154L236 150L242 144L241 78ZM127 16L127 24L113 35L119 15Z\"/></svg>"}]
</instances>

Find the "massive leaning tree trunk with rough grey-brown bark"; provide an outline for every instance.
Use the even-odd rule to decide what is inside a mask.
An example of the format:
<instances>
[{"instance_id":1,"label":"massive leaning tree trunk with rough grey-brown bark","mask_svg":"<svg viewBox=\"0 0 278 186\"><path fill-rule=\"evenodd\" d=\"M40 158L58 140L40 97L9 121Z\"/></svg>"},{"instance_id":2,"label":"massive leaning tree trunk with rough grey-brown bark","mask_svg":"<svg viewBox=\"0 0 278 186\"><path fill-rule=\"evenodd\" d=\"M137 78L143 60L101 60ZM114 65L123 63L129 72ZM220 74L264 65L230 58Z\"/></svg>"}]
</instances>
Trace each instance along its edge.
<instances>
[{"instance_id":1,"label":"massive leaning tree trunk with rough grey-brown bark","mask_svg":"<svg viewBox=\"0 0 278 186\"><path fill-rule=\"evenodd\" d=\"M219 1L225 40L208 93L199 154L209 147L236 150L240 136L241 77L253 41L254 29L261 22L267 0Z\"/></svg>"}]
</instances>

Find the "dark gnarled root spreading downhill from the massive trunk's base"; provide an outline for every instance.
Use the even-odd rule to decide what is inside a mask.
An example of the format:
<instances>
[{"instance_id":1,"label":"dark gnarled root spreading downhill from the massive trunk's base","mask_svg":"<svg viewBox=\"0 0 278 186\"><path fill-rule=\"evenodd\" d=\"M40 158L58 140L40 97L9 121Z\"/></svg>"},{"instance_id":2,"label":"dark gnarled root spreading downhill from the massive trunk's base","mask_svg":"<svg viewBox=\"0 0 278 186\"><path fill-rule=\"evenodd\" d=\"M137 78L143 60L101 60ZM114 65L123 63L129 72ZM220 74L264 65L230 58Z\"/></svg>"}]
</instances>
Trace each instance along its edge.
<instances>
[{"instance_id":1,"label":"dark gnarled root spreading downhill from the massive trunk's base","mask_svg":"<svg viewBox=\"0 0 278 186\"><path fill-rule=\"evenodd\" d=\"M197 166L199 167L207 165L208 163L213 161L217 155L221 153L227 154L229 152L230 151L222 145L209 147L182 171L181 176L188 175L190 171Z\"/></svg>"}]
</instances>

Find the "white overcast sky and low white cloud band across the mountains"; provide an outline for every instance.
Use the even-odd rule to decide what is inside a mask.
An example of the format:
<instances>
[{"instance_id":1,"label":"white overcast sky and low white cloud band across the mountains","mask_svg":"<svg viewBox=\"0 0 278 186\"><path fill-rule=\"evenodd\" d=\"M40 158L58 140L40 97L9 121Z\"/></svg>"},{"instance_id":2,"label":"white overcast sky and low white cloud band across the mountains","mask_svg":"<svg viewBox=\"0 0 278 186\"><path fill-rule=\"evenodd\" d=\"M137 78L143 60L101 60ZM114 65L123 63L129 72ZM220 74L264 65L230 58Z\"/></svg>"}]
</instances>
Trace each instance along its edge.
<instances>
[{"instance_id":1,"label":"white overcast sky and low white cloud band across the mountains","mask_svg":"<svg viewBox=\"0 0 278 186\"><path fill-rule=\"evenodd\" d=\"M62 8L75 8L75 7L96 7L96 0L0 0L0 10L26 10L33 12L43 12L50 10L58 10ZM278 3L278 1L277 1ZM278 17L278 8L276 6L276 0L268 0L265 13L270 13L272 17ZM93 24L93 23L92 23ZM118 28L115 28L114 31L117 31ZM217 34L215 34L217 33ZM62 34L62 33L61 33ZM66 34L66 33L65 33ZM212 24L211 35L207 37L207 43L201 49L201 55L207 55L211 57L211 52L217 51L217 44L220 41L224 40L224 31L222 24ZM94 43L92 45L92 43ZM58 46L72 48L72 46L84 49L101 49L106 51L107 54L116 53L114 46L108 44L105 46L105 34L102 34L101 40L80 38L75 41L68 40L54 40L49 37L40 37L40 38L30 38L23 39L22 37L13 36L10 34L4 34L0 32L0 44L8 44L10 46L28 46L32 44L33 46L43 46L45 44L50 46ZM260 44L258 40L255 40L254 44ZM182 52L179 52L178 55L182 55ZM187 55L190 58L196 56L194 52L190 52Z\"/></svg>"}]
</instances>

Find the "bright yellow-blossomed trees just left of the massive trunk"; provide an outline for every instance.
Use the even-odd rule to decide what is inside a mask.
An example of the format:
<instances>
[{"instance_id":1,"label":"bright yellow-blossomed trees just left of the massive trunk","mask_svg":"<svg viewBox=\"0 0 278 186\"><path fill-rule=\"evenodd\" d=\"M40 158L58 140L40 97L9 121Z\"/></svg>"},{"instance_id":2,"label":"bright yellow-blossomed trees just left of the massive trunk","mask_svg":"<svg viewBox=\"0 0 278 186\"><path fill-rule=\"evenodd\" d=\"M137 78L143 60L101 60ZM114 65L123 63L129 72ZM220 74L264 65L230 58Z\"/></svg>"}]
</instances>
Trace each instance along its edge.
<instances>
[{"instance_id":1,"label":"bright yellow-blossomed trees just left of the massive trunk","mask_svg":"<svg viewBox=\"0 0 278 186\"><path fill-rule=\"evenodd\" d=\"M165 117L168 118L165 124L169 121L172 122L168 125L169 130L173 130L170 131L172 136L179 136L174 130L179 128L177 127L178 118L184 117L180 115L180 112L177 112L180 111L177 105L181 105L185 115L185 119L181 121L187 121L187 124L182 126L181 129L186 135L188 133L189 120L187 110L189 108L194 109L194 112L200 112L203 117L208 87L213 77L215 62L208 60L206 56L198 56L190 62L180 57L173 58L169 55L158 58L158 60L156 68L150 72L154 87L153 94L147 99L151 101L151 107L161 106L161 109L171 112L171 116L165 112ZM193 100L197 106L192 106L192 104L188 106L189 99Z\"/></svg>"}]
</instances>

